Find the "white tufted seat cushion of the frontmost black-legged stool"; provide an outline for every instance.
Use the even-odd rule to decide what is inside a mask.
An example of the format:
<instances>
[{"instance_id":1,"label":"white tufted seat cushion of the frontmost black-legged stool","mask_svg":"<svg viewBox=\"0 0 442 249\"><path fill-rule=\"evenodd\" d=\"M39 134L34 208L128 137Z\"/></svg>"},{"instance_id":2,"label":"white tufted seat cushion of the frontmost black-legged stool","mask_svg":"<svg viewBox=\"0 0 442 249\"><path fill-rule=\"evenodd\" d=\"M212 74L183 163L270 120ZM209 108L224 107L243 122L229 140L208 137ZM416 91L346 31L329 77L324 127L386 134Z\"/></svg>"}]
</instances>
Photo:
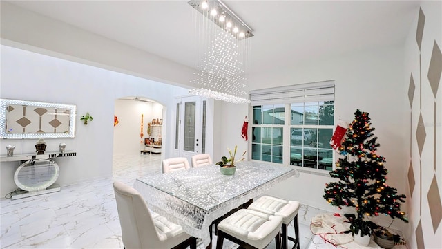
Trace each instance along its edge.
<instances>
[{"instance_id":1,"label":"white tufted seat cushion of the frontmost black-legged stool","mask_svg":"<svg viewBox=\"0 0 442 249\"><path fill-rule=\"evenodd\" d=\"M256 248L265 248L276 237L281 225L281 216L241 209L222 220L218 230Z\"/></svg>"}]
</instances>

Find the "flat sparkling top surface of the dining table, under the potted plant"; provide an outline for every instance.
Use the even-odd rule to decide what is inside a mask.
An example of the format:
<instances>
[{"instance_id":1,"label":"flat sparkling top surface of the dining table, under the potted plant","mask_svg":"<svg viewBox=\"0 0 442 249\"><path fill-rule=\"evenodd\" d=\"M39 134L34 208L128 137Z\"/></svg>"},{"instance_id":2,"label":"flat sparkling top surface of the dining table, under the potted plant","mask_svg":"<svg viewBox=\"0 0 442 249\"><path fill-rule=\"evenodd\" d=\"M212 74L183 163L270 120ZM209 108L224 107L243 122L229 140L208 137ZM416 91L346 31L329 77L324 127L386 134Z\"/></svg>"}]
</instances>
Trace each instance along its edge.
<instances>
[{"instance_id":1,"label":"flat sparkling top surface of the dining table, under the potted plant","mask_svg":"<svg viewBox=\"0 0 442 249\"><path fill-rule=\"evenodd\" d=\"M206 165L167 174L138 178L151 187L207 211L215 210L222 203L247 194L256 187L280 176L293 176L296 169L263 163L241 162L235 174L220 173L220 166Z\"/></svg>"}]
</instances>

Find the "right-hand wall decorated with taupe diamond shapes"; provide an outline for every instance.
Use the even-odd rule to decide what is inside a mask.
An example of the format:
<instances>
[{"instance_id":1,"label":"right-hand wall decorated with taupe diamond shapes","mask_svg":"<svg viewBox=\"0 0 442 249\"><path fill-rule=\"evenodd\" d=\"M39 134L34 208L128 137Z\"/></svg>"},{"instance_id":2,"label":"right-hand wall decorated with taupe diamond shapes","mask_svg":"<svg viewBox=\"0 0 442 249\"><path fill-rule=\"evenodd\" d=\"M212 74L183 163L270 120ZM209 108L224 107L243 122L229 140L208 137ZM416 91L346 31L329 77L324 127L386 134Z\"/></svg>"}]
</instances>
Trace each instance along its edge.
<instances>
[{"instance_id":1,"label":"right-hand wall decorated with taupe diamond shapes","mask_svg":"<svg viewBox=\"0 0 442 249\"><path fill-rule=\"evenodd\" d=\"M416 10L416 19L405 43L405 91L401 93L408 99L412 77L412 102L407 100L404 106L407 117L404 155L408 167L403 172L403 178L407 180L407 205L410 210L410 225L405 230L405 236L408 248L442 248L442 80L439 78L434 92L427 76L434 44L439 51L442 49L442 1L422 1L421 9L425 16L421 19L421 48L416 42L419 20L419 10ZM439 66L433 68L432 73L439 70L440 77L441 67L439 57ZM419 122L420 117L422 122ZM417 136L418 129L424 129L425 136Z\"/></svg>"}]
</instances>

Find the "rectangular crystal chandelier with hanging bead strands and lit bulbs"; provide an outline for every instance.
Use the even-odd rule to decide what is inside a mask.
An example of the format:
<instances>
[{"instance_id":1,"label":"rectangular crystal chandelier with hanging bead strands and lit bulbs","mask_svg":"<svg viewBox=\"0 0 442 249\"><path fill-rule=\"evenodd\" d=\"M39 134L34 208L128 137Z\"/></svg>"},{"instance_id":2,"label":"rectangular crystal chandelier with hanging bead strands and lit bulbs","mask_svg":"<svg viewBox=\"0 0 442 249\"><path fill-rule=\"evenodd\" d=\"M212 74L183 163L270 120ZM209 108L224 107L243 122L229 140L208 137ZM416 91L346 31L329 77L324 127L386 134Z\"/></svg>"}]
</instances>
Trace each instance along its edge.
<instances>
[{"instance_id":1,"label":"rectangular crystal chandelier with hanging bead strands and lit bulbs","mask_svg":"<svg viewBox=\"0 0 442 249\"><path fill-rule=\"evenodd\" d=\"M251 28L220 0L191 0L195 8L195 79L189 93L236 104L249 103L247 68Z\"/></svg>"}]
</instances>

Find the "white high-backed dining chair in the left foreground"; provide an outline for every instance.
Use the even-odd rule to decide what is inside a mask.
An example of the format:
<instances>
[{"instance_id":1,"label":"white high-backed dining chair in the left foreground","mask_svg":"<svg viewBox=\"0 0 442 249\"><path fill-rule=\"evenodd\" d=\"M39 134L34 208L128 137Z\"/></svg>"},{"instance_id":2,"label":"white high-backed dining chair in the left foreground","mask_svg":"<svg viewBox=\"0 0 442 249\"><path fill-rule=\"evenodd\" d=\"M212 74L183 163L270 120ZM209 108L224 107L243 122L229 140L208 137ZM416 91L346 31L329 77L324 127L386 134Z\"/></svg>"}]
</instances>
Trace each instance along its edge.
<instances>
[{"instance_id":1,"label":"white high-backed dining chair in the left foreground","mask_svg":"<svg viewBox=\"0 0 442 249\"><path fill-rule=\"evenodd\" d=\"M152 215L137 190L122 182L113 183L124 248L196 249L196 238L164 216Z\"/></svg>"}]
</instances>

